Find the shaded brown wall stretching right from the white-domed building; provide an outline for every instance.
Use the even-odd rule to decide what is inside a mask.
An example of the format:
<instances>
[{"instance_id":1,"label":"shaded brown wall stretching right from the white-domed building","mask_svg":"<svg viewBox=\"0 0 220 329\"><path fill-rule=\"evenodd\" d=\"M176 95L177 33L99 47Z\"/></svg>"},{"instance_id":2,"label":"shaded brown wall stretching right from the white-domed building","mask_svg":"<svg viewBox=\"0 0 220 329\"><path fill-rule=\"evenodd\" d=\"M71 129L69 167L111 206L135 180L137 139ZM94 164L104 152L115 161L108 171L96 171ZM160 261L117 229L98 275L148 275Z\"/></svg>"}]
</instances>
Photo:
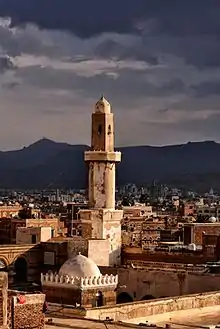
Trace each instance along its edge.
<instances>
[{"instance_id":1,"label":"shaded brown wall stretching right from the white-domed building","mask_svg":"<svg viewBox=\"0 0 220 329\"><path fill-rule=\"evenodd\" d=\"M120 268L118 279L118 295L126 292L133 300L141 300L149 295L161 298L216 291L219 289L220 275L166 268Z\"/></svg>"}]
</instances>

